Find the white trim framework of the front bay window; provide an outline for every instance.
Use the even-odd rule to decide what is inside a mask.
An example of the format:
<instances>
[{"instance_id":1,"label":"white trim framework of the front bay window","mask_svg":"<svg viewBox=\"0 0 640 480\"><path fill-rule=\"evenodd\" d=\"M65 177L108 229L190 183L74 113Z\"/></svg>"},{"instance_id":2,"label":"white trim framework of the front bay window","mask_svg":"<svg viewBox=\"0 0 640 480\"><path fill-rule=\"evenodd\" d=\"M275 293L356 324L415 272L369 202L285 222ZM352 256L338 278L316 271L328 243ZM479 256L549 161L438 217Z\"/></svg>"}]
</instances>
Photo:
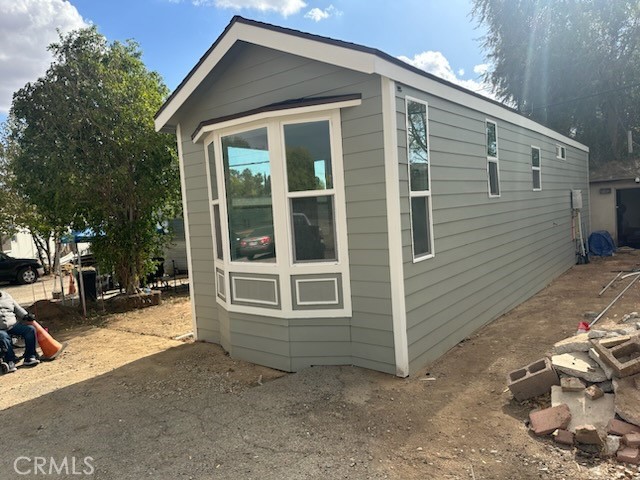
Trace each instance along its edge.
<instances>
[{"instance_id":1,"label":"white trim framework of the front bay window","mask_svg":"<svg viewBox=\"0 0 640 480\"><path fill-rule=\"evenodd\" d=\"M344 103L344 102L342 102ZM207 190L209 198L209 215L211 218L211 234L213 240L213 255L215 266L224 272L225 292L233 292L230 285L231 274L272 274L277 275L280 284L280 308L260 308L249 305L237 305L231 301L216 296L216 301L229 312L246 313L252 315L262 315L267 317L278 318L344 318L352 316L351 305L351 281L349 275L349 252L347 237L347 215L346 200L344 193L344 169L342 158L342 132L340 109L342 103L324 105L324 111L318 112L317 106L308 107L308 109L300 108L286 110L280 112L278 117L269 116L260 120L247 121L247 118L234 119L233 122L224 122L224 128L219 125L213 125L212 130L203 137L203 147L205 151L206 171L207 171ZM290 222L290 198L323 195L325 190L315 190L313 192L292 192L288 193L286 183L286 161L284 160L284 130L283 125L301 122L329 121L329 131L331 138L331 154L332 154L332 171L333 171L333 189L331 189L334 198L334 221L336 235L336 252L337 260L326 262L293 262L293 242L291 237ZM246 132L257 128L267 127L267 135L269 142L269 159L271 161L271 191L272 191L272 208L274 218L274 228L276 232L282 232L276 235L278 252L288 252L286 255L279 254L275 258L275 262L236 262L229 258L229 225L228 212L226 202L226 188L224 185L224 165L221 160L222 148L220 139L224 136L233 135L234 133ZM217 181L218 181L218 200L212 200L211 191L211 175L209 175L208 161L208 145L214 142L214 154L216 160ZM276 161L282 158L282 162ZM215 252L215 225L213 206L218 203L220 206L220 229L222 231L222 248L223 260L219 260ZM283 238L285 237L285 238ZM288 256L288 259L286 258ZM327 309L310 309L310 310L294 310L291 277L297 275L314 275L314 274L339 274L341 276L342 285L342 308ZM236 277L234 277L236 278ZM252 277L257 278L257 277ZM227 296L227 298L231 298ZM236 299L237 300L237 299ZM243 300L245 301L245 300ZM257 302L253 302L257 303ZM327 305L329 307L329 305Z\"/></svg>"}]
</instances>

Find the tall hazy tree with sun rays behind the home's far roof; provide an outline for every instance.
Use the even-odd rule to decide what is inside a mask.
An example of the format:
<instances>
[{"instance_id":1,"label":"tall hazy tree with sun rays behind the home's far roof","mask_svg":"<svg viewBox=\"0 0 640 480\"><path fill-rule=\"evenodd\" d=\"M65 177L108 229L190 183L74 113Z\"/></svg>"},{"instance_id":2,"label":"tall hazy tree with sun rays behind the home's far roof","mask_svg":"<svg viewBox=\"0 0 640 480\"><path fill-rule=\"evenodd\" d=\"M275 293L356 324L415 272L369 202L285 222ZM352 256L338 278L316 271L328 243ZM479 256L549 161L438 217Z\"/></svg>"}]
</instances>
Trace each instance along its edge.
<instances>
[{"instance_id":1,"label":"tall hazy tree with sun rays behind the home's far roof","mask_svg":"<svg viewBox=\"0 0 640 480\"><path fill-rule=\"evenodd\" d=\"M626 157L627 131L640 132L637 0L474 0L473 15L500 99L595 163Z\"/></svg>"}]
</instances>

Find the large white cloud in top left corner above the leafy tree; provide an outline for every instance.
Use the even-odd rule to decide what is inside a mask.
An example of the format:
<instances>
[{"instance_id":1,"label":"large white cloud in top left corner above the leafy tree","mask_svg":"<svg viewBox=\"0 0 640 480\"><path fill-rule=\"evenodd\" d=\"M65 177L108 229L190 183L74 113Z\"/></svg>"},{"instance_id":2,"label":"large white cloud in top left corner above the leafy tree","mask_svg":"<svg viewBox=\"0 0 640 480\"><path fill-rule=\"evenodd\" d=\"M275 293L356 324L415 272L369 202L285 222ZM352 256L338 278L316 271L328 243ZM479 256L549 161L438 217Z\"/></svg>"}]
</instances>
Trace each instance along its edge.
<instances>
[{"instance_id":1,"label":"large white cloud in top left corner above the leafy tree","mask_svg":"<svg viewBox=\"0 0 640 480\"><path fill-rule=\"evenodd\" d=\"M8 113L13 92L46 72L56 29L86 26L66 0L0 0L0 114Z\"/></svg>"}]
</instances>

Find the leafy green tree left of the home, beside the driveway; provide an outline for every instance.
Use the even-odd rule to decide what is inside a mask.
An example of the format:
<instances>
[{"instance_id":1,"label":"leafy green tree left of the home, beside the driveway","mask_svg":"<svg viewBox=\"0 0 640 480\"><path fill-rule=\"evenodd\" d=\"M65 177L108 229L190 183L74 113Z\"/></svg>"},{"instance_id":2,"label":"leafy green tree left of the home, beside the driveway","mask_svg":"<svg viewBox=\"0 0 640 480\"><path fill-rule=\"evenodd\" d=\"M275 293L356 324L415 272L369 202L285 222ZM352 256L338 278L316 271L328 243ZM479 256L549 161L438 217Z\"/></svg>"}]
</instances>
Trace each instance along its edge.
<instances>
[{"instance_id":1,"label":"leafy green tree left of the home, beside the driveway","mask_svg":"<svg viewBox=\"0 0 640 480\"><path fill-rule=\"evenodd\" d=\"M49 49L44 77L13 98L16 184L57 227L99 233L99 264L132 293L167 240L158 225L179 206L175 142L153 125L168 89L135 42L109 44L95 27Z\"/></svg>"}]
</instances>

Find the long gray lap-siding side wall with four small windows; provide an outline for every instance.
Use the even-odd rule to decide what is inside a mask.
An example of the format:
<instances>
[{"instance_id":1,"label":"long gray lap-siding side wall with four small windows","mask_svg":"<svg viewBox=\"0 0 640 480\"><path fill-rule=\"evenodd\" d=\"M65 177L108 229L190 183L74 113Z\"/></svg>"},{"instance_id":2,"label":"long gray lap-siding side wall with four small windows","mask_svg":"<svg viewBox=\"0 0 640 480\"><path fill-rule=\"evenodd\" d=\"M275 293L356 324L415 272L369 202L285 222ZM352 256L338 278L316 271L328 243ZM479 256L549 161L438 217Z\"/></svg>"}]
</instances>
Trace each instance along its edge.
<instances>
[{"instance_id":1,"label":"long gray lap-siding side wall with four small windows","mask_svg":"<svg viewBox=\"0 0 640 480\"><path fill-rule=\"evenodd\" d=\"M413 263L406 168L405 96L429 103L435 257ZM489 198L485 120L402 86L396 99L410 369L424 366L534 295L575 263L570 190L582 189L588 231L588 154L497 118L500 198ZM533 191L531 146L541 149Z\"/></svg>"}]
</instances>

